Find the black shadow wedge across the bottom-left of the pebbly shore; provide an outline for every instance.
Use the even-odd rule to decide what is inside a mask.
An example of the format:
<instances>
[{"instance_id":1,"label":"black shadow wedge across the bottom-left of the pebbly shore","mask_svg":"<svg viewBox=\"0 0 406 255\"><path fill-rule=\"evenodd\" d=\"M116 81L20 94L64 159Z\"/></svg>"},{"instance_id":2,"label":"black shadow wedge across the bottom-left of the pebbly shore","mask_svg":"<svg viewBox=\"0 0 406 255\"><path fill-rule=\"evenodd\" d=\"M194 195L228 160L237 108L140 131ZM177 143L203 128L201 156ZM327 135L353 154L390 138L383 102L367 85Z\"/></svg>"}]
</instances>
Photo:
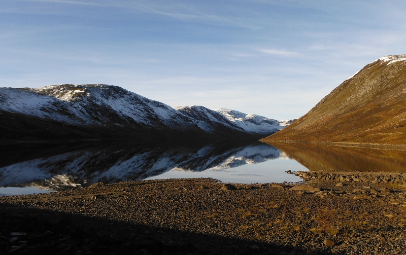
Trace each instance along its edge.
<instances>
[{"instance_id":1,"label":"black shadow wedge across the bottom-left of the pebbly shore","mask_svg":"<svg viewBox=\"0 0 406 255\"><path fill-rule=\"evenodd\" d=\"M330 254L7 203L0 232L0 254Z\"/></svg>"}]
</instances>

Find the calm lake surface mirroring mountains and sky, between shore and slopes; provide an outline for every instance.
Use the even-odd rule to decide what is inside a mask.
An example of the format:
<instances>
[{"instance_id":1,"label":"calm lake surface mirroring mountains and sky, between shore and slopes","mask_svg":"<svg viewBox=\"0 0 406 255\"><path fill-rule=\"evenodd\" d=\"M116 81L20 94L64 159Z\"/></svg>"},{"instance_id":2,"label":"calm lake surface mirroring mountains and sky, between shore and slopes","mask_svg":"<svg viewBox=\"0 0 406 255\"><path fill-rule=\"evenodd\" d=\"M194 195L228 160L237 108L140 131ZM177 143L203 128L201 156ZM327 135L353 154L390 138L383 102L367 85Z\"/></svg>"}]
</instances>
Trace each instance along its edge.
<instances>
[{"instance_id":1,"label":"calm lake surface mirroring mountains and sky, between shore and slopes","mask_svg":"<svg viewBox=\"0 0 406 255\"><path fill-rule=\"evenodd\" d=\"M231 183L282 183L300 181L285 173L288 169L406 169L406 152L256 141L2 145L0 159L0 196L71 189L98 181L211 177Z\"/></svg>"}]
</instances>

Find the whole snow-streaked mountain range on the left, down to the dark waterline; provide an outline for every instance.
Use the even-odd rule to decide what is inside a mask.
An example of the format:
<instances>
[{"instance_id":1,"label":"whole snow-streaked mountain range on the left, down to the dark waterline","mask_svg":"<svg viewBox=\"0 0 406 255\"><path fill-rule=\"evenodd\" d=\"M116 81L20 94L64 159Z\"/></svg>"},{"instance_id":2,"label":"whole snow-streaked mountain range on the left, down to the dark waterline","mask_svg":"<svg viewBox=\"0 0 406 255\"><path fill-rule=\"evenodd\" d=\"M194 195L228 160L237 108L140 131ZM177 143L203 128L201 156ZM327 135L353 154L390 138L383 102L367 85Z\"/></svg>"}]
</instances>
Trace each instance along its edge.
<instances>
[{"instance_id":1,"label":"whole snow-streaked mountain range on the left, down to the dark waterline","mask_svg":"<svg viewBox=\"0 0 406 255\"><path fill-rule=\"evenodd\" d=\"M266 118L244 128L203 106L173 108L103 84L0 88L0 120L2 139L260 137L283 128Z\"/></svg>"}]
</instances>

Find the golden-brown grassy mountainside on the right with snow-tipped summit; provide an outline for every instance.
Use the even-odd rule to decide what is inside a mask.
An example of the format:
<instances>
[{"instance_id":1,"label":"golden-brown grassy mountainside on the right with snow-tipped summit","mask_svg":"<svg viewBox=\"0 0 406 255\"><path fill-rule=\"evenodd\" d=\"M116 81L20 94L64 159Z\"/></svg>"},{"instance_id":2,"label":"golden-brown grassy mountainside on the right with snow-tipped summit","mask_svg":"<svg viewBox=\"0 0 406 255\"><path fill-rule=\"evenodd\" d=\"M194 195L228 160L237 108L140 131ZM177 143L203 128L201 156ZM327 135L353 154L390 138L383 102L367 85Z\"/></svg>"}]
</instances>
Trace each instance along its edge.
<instances>
[{"instance_id":1,"label":"golden-brown grassy mountainside on the right with snow-tipped summit","mask_svg":"<svg viewBox=\"0 0 406 255\"><path fill-rule=\"evenodd\" d=\"M406 55L379 58L264 141L406 143Z\"/></svg>"}]
</instances>

